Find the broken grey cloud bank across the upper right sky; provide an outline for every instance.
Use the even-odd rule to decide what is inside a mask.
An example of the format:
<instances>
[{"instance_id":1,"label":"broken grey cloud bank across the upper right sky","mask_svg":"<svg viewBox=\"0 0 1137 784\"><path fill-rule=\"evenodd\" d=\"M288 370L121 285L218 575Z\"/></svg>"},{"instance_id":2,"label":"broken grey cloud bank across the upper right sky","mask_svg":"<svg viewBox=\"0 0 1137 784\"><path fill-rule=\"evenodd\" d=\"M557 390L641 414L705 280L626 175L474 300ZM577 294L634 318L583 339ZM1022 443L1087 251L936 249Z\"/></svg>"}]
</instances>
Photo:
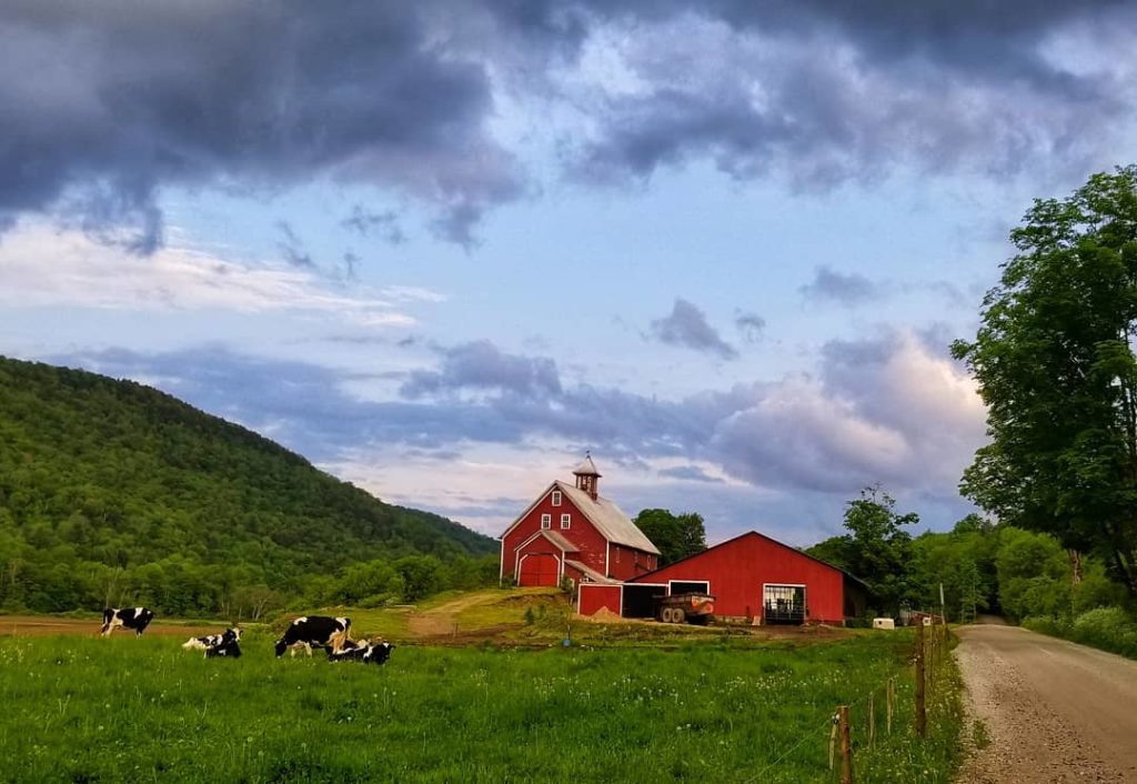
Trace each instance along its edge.
<instances>
[{"instance_id":1,"label":"broken grey cloud bank across the upper right sky","mask_svg":"<svg viewBox=\"0 0 1137 784\"><path fill-rule=\"evenodd\" d=\"M1137 9L1121 2L597 5L625 25L641 89L594 108L598 130L574 159L587 180L645 179L691 158L803 188L902 165L1080 176L1110 163L1093 129L1132 116L1132 57L1110 33ZM1054 41L1084 30L1121 67L1062 61Z\"/></svg>"}]
</instances>

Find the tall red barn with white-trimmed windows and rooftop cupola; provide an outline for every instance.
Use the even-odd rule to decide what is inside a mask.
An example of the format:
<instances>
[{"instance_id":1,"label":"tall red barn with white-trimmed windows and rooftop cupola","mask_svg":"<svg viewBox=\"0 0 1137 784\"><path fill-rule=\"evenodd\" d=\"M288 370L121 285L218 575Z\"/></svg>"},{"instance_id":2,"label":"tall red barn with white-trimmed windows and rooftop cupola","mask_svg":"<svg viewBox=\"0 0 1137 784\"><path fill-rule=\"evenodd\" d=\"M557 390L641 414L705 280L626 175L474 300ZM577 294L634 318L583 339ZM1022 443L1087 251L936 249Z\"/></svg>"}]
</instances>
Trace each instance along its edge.
<instances>
[{"instance_id":1,"label":"tall red barn with white-trimmed windows and rooftop cupola","mask_svg":"<svg viewBox=\"0 0 1137 784\"><path fill-rule=\"evenodd\" d=\"M573 471L574 486L554 481L501 535L501 579L556 586L567 577L619 584L655 569L659 551L614 503L599 494L591 456Z\"/></svg>"}]
</instances>

